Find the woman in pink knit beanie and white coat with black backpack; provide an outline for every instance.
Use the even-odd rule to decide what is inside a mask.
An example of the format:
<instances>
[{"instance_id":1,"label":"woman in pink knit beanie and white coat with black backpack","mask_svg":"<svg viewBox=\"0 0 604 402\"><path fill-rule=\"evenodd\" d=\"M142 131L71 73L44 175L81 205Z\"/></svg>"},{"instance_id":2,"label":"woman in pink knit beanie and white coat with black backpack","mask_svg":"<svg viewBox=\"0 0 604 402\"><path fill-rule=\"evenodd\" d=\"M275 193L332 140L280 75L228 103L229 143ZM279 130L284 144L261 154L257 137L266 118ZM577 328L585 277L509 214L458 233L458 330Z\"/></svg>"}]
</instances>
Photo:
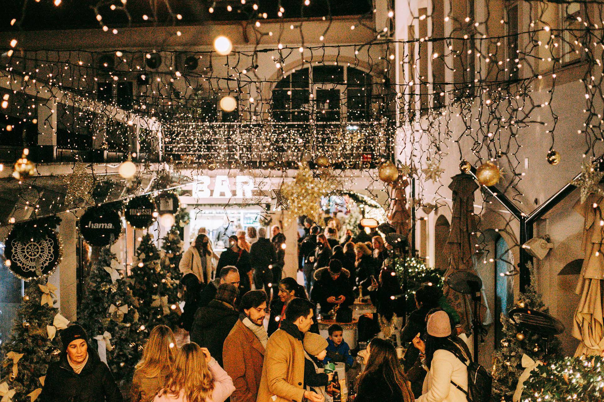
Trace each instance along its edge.
<instances>
[{"instance_id":1,"label":"woman in pink knit beanie and white coat with black backpack","mask_svg":"<svg viewBox=\"0 0 604 402\"><path fill-rule=\"evenodd\" d=\"M413 340L420 350L424 368L428 370L422 396L416 402L467 402L464 391L467 392L466 364L469 364L467 356L470 353L466 344L451 335L451 322L445 311L436 311L429 316L427 330L425 344L419 337ZM461 359L465 359L464 362Z\"/></svg>"}]
</instances>

